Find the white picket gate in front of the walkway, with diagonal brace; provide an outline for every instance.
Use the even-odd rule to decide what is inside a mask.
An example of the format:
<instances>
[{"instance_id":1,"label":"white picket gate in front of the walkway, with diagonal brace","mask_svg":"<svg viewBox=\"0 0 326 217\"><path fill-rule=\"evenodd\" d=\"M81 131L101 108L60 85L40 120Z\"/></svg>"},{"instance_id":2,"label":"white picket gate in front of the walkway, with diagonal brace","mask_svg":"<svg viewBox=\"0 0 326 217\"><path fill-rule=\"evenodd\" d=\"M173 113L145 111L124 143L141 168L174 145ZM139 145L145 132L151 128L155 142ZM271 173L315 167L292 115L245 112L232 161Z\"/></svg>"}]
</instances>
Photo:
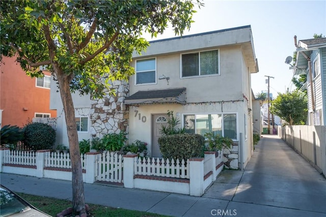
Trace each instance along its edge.
<instances>
[{"instance_id":1,"label":"white picket gate in front of the walkway, with diagonal brace","mask_svg":"<svg viewBox=\"0 0 326 217\"><path fill-rule=\"evenodd\" d=\"M122 183L123 157L114 152L101 153L95 159L95 180Z\"/></svg>"}]
</instances>

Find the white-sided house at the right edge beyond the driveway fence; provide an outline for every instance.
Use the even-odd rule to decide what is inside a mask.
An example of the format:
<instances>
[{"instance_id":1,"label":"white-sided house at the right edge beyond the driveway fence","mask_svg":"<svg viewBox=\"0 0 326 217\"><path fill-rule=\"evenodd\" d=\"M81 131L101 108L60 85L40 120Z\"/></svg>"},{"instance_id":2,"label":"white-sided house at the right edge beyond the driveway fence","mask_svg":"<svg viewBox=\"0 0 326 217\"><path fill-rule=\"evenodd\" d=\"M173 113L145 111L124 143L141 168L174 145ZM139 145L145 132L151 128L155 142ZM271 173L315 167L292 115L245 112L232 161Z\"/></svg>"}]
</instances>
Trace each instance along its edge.
<instances>
[{"instance_id":1,"label":"white-sided house at the right edge beyond the driveway fence","mask_svg":"<svg viewBox=\"0 0 326 217\"><path fill-rule=\"evenodd\" d=\"M294 74L307 73L308 123L326 125L326 38L300 40L296 46Z\"/></svg>"}]
</instances>

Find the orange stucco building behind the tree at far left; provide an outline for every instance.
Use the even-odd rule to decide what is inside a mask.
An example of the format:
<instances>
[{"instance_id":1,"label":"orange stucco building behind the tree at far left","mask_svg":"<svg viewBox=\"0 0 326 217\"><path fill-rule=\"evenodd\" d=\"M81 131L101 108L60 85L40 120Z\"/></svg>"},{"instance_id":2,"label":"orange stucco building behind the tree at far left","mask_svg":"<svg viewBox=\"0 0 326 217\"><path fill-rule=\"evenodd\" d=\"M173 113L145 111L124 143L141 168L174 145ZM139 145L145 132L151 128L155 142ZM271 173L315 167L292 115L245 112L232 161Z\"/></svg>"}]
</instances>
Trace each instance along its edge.
<instances>
[{"instance_id":1,"label":"orange stucco building behind the tree at far left","mask_svg":"<svg viewBox=\"0 0 326 217\"><path fill-rule=\"evenodd\" d=\"M43 78L31 78L15 62L3 57L0 66L0 124L22 127L34 117L57 116L50 110L50 73Z\"/></svg>"}]
</instances>

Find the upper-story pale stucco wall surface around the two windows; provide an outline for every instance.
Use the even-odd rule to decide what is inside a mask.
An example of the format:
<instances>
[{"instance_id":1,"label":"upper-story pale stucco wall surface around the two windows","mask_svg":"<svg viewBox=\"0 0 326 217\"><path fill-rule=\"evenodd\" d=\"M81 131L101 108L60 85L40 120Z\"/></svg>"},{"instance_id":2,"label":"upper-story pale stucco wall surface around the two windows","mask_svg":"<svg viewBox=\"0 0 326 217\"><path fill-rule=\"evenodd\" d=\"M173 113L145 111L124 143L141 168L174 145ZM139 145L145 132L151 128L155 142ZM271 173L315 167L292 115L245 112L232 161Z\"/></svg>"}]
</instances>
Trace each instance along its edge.
<instances>
[{"instance_id":1,"label":"upper-story pale stucco wall surface around the two windows","mask_svg":"<svg viewBox=\"0 0 326 217\"><path fill-rule=\"evenodd\" d=\"M132 95L140 90L167 89L185 87L187 102L226 101L242 99L242 53L240 46L220 49L220 75L180 78L180 53L156 57L157 77L170 77L169 85L166 79L157 79L157 84L134 85L134 75L130 77L130 92ZM144 57L147 59L147 57ZM134 61L131 63L134 67Z\"/></svg>"}]
</instances>

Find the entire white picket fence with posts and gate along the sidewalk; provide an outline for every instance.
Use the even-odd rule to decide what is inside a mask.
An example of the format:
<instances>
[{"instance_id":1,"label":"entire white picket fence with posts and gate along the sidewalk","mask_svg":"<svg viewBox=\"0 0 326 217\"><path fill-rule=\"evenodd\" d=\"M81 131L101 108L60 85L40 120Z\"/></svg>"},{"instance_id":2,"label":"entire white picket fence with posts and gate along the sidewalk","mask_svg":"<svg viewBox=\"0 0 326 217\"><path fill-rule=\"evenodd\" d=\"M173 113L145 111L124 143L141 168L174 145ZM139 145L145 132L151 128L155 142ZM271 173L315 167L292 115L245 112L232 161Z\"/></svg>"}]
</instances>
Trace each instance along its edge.
<instances>
[{"instance_id":1,"label":"entire white picket fence with posts and gate along the sidewalk","mask_svg":"<svg viewBox=\"0 0 326 217\"><path fill-rule=\"evenodd\" d=\"M221 155L216 157L215 152L205 152L204 158L187 160L144 158L114 152L90 152L81 158L86 183L116 182L127 188L193 196L202 196L223 169ZM68 153L0 149L0 172L71 180L70 169Z\"/></svg>"}]
</instances>

